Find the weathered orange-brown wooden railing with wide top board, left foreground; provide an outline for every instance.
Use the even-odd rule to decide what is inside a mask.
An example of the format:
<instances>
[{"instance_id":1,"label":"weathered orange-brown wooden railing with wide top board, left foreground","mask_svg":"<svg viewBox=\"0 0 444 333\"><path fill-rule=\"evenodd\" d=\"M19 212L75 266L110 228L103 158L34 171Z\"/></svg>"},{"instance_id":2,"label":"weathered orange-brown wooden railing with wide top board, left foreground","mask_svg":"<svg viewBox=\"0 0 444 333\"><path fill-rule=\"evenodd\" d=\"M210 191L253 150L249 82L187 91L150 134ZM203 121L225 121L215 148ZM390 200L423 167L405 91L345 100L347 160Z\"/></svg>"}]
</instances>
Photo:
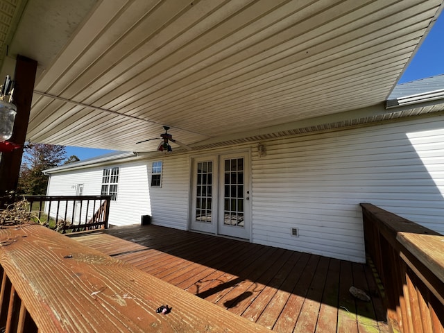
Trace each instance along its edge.
<instances>
[{"instance_id":1,"label":"weathered orange-brown wooden railing with wide top board, left foreground","mask_svg":"<svg viewBox=\"0 0 444 333\"><path fill-rule=\"evenodd\" d=\"M0 244L1 332L270 332L42 225Z\"/></svg>"}]
</instances>

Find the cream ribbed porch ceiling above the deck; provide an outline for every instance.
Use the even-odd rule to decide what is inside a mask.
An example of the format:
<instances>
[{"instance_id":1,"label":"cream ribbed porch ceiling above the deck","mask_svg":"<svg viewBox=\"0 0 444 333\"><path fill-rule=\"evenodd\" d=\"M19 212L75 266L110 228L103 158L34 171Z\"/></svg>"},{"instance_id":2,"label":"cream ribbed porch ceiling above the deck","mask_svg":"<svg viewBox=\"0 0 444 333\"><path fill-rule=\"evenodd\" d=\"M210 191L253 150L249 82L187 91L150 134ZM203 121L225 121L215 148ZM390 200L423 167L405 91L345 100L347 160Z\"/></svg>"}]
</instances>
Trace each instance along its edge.
<instances>
[{"instance_id":1,"label":"cream ribbed porch ceiling above the deck","mask_svg":"<svg viewBox=\"0 0 444 333\"><path fill-rule=\"evenodd\" d=\"M196 148L323 130L393 117L384 101L442 7L0 0L1 78L17 55L38 62L31 142L155 151L136 142L162 126Z\"/></svg>"}]
</instances>

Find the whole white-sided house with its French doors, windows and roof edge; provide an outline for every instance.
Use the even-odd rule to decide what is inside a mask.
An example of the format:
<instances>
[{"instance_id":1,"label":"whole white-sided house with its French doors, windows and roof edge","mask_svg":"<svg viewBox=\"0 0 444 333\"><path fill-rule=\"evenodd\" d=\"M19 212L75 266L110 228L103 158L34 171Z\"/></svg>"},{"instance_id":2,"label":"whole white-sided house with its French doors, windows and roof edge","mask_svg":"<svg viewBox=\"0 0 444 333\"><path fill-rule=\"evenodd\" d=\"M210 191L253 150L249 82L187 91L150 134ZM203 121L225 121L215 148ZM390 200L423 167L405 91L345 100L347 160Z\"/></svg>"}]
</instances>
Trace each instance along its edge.
<instances>
[{"instance_id":1,"label":"whole white-sided house with its French doors, windows and roof edge","mask_svg":"<svg viewBox=\"0 0 444 333\"><path fill-rule=\"evenodd\" d=\"M45 171L47 194L112 194L112 225L151 215L155 225L364 262L359 203L444 233L443 88L444 75L398 85L393 113L364 125L56 167Z\"/></svg>"}]
</instances>

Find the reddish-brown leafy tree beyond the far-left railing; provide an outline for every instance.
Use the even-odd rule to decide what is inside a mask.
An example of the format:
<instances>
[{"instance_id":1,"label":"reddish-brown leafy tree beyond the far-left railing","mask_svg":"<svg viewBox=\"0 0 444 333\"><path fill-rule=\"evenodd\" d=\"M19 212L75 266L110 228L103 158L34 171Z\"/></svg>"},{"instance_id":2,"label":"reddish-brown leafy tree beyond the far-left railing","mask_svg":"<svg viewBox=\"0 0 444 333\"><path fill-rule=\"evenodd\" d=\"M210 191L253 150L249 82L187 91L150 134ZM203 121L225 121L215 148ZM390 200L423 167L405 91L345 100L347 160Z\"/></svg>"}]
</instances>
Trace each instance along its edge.
<instances>
[{"instance_id":1,"label":"reddish-brown leafy tree beyond the far-left railing","mask_svg":"<svg viewBox=\"0 0 444 333\"><path fill-rule=\"evenodd\" d=\"M27 143L24 147L17 194L46 194L48 177L42 171L58 167L65 160L65 155L65 146Z\"/></svg>"}]
</instances>

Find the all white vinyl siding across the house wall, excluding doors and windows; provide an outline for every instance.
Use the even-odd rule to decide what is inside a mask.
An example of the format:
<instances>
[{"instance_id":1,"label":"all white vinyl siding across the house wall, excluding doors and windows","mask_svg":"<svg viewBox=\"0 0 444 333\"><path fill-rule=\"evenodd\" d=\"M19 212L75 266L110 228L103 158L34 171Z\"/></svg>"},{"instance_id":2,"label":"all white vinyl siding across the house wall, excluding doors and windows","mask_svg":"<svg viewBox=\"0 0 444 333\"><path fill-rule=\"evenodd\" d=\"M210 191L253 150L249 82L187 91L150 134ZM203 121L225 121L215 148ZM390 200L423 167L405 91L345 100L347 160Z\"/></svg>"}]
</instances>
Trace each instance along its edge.
<instances>
[{"instance_id":1,"label":"all white vinyl siding across the house wall, excluding doors and windows","mask_svg":"<svg viewBox=\"0 0 444 333\"><path fill-rule=\"evenodd\" d=\"M162 157L162 187L148 187L157 158L114 163L119 196L110 223L189 228L190 158L251 149L252 241L364 262L359 203L444 233L444 119L422 117L331 133L263 141ZM51 176L49 195L99 194L103 167ZM56 191L57 189L57 191ZM298 228L299 237L291 235Z\"/></svg>"}]
</instances>

